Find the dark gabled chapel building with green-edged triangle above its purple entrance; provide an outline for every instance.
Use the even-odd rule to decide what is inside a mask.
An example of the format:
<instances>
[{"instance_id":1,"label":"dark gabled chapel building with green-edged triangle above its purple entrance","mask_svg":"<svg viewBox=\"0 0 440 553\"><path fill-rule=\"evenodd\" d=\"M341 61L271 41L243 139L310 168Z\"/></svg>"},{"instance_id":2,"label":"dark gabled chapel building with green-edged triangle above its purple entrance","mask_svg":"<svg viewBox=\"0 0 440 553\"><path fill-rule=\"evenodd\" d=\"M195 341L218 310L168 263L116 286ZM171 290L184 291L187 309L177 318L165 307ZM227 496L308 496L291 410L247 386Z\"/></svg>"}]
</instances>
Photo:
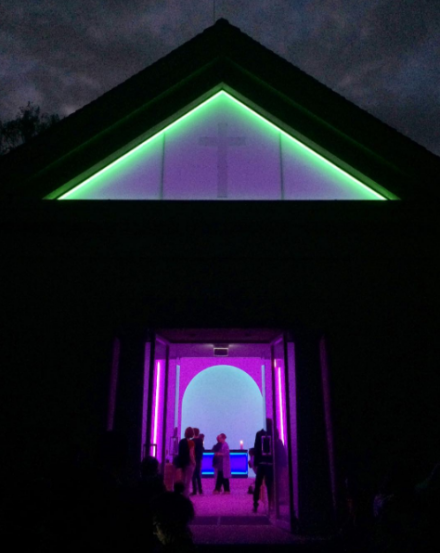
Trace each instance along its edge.
<instances>
[{"instance_id":1,"label":"dark gabled chapel building with green-edged triangle above its purple entrance","mask_svg":"<svg viewBox=\"0 0 440 553\"><path fill-rule=\"evenodd\" d=\"M8 470L106 429L165 463L216 345L259 360L278 521L435 456L434 155L220 20L0 161Z\"/></svg>"}]
</instances>

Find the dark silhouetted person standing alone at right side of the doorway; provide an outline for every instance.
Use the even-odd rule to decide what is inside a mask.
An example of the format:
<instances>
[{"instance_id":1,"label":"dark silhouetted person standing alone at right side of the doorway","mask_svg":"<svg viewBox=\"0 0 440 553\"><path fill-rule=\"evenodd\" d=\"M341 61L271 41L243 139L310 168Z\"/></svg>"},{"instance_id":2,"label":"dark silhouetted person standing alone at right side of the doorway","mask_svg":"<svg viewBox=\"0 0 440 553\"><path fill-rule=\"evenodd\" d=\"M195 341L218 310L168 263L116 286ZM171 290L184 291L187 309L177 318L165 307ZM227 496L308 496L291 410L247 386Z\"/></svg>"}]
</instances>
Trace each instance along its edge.
<instances>
[{"instance_id":1,"label":"dark silhouetted person standing alone at right side of the doorway","mask_svg":"<svg viewBox=\"0 0 440 553\"><path fill-rule=\"evenodd\" d=\"M258 510L260 489L265 480L267 495L270 500L273 483L273 455L272 455L272 420L266 420L267 430L263 428L255 435L254 444L254 471L256 471L254 488L254 513Z\"/></svg>"}]
</instances>

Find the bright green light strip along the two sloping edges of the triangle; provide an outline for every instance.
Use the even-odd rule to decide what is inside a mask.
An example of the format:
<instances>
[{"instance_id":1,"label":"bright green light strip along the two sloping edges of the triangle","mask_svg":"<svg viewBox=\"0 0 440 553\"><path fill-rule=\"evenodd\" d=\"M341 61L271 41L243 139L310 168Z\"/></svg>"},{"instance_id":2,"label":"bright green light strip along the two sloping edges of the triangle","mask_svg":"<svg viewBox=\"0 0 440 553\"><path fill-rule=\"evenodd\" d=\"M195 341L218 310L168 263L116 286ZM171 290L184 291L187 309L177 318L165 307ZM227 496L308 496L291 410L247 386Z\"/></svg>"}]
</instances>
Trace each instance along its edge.
<instances>
[{"instance_id":1,"label":"bright green light strip along the two sloping edges of the triangle","mask_svg":"<svg viewBox=\"0 0 440 553\"><path fill-rule=\"evenodd\" d=\"M71 194L77 192L80 188L86 186L87 184L89 184L93 179L95 179L96 177L104 174L105 172L109 171L112 167L114 167L116 164L118 164L120 161L122 161L123 159L127 159L128 157L130 157L131 155L133 155L135 152L137 152L140 148L143 148L144 146L146 146L147 144L149 144L150 142L152 142L155 138L157 138L159 135L161 135L162 133L165 133L167 131L169 131L170 129L172 129L173 127L175 127L177 124L180 124L182 121L184 121L185 119L187 119L188 117L190 117L195 111L199 110L200 108L202 108L203 106L206 106L207 104L215 101L217 98L219 98L220 96L226 96L228 99L232 100L233 102L235 102L238 106L240 106L241 108L243 108L244 110L246 110L248 113L250 113L251 115L253 115L254 117L257 117L259 120L263 121L266 125L269 125L270 127L272 127L273 129L275 129L277 132L280 132L283 136L285 136L286 138L288 138L289 140L291 140L292 142L294 142L296 145L298 145L300 148L303 148L305 151L313 154L314 156L318 157L319 159L321 159L324 163L326 163L327 165L329 165L332 169L336 169L339 173L341 173L343 176L345 177L348 177L353 183L357 184L358 186L361 186L362 188L368 190L369 193L373 194L374 196L376 196L376 198L378 200L386 200L386 198L384 196L382 196L381 194L379 194L378 192L376 192L375 190L372 190L371 188L369 188L367 185L365 185L363 182L361 182L360 180L356 179L355 177L353 177L352 175L350 175L349 173L347 173L346 171L344 171L343 169L341 169L340 167L338 167L337 165L334 165L331 161L329 161L328 159L326 159L324 156L322 156L321 154L318 154L317 152L315 152L315 150L312 150L312 148L309 148L308 146L306 146L305 144L303 144L302 142L300 142L299 140L297 140L296 138L293 138L293 136L291 136L290 134L288 134L287 132L283 131L282 129L280 129L279 127L277 127L276 125L274 125L273 123L271 123L270 121L268 121L267 119L265 119L264 117L262 117L260 114L258 114L256 111L254 111L253 109L249 108L248 106L246 106L245 104L243 104L242 102L240 102L239 100L237 100L236 98L234 98L233 96L231 96L231 94L229 94L228 92L225 92L224 90L221 90L217 93L215 93L213 96L211 96L211 98L208 98L207 100L203 101L201 104L199 104L198 106L196 106L195 108L191 109L190 111L188 111L188 113L185 113L185 115L182 115L182 117L180 117L179 119L177 119L176 121L174 121L173 123L170 123L168 126L166 126L164 129L162 129L161 131L157 132L156 134L154 134L153 136L151 136L150 138L148 138L147 140L145 140L144 142L141 142L141 144L139 144L138 146L135 146L132 150L130 150L129 152L127 152L126 154L122 155L121 157L119 157L118 159L116 159L115 161L111 162L109 165L107 165L106 167L104 167L103 169L101 169L100 171L98 171L97 173L95 173L94 175L92 175L91 177L89 177L88 179L86 179L85 181L83 181L81 184L79 184L78 186L75 186L72 190L69 190L69 192L66 192L65 194L63 194L62 196L60 196L58 198L58 200L65 200L67 199Z\"/></svg>"}]
</instances>

